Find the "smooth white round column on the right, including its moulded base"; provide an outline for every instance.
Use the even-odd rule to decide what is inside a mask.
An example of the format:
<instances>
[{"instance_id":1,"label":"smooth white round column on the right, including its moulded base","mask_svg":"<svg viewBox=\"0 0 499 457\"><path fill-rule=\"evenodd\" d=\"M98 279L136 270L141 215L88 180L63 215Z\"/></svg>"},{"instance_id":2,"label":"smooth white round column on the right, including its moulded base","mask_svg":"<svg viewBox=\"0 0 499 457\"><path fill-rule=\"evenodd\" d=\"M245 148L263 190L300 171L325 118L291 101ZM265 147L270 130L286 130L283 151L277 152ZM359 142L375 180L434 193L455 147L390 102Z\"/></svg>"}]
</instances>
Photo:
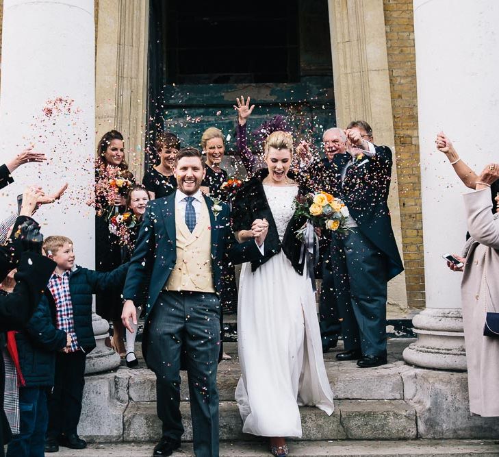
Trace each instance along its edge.
<instances>
[{"instance_id":1,"label":"smooth white round column on the right, including its moulded base","mask_svg":"<svg viewBox=\"0 0 499 457\"><path fill-rule=\"evenodd\" d=\"M461 184L435 136L443 130L477 173L497 162L499 3L413 0L426 309L414 317L418 342L404 352L421 367L465 370L461 275L442 254L461 251L466 232Z\"/></svg>"}]
</instances>

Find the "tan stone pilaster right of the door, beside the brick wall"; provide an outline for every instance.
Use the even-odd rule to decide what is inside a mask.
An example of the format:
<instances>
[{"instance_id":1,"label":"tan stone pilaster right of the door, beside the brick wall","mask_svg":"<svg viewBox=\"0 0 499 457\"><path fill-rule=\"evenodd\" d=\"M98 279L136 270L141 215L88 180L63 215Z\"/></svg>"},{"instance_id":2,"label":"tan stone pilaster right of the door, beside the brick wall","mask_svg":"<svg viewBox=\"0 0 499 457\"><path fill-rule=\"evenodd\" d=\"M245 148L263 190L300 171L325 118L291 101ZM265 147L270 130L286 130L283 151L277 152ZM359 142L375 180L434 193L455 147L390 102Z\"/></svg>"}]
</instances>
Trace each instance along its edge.
<instances>
[{"instance_id":1,"label":"tan stone pilaster right of the door, beside the brick wall","mask_svg":"<svg viewBox=\"0 0 499 457\"><path fill-rule=\"evenodd\" d=\"M389 146L394 153L388 205L402 256L383 0L329 0L328 7L337 125L368 121L375 143ZM401 273L388 284L387 313L400 318L407 312L405 274Z\"/></svg>"}]
</instances>

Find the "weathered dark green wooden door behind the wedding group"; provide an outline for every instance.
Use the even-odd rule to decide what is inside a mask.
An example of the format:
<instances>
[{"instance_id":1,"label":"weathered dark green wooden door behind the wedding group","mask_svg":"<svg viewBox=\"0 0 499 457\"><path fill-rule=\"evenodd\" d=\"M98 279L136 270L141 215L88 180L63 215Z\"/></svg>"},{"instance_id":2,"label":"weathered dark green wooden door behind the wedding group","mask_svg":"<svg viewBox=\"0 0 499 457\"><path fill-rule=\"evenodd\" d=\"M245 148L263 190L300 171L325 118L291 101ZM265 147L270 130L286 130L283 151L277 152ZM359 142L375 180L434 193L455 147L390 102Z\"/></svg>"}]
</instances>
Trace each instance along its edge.
<instances>
[{"instance_id":1,"label":"weathered dark green wooden door behind the wedding group","mask_svg":"<svg viewBox=\"0 0 499 457\"><path fill-rule=\"evenodd\" d=\"M233 105L244 95L256 105L248 132L281 114L296 144L320 149L336 124L327 0L150 0L150 14L149 144L165 130L200 147L218 127L231 171Z\"/></svg>"}]
</instances>

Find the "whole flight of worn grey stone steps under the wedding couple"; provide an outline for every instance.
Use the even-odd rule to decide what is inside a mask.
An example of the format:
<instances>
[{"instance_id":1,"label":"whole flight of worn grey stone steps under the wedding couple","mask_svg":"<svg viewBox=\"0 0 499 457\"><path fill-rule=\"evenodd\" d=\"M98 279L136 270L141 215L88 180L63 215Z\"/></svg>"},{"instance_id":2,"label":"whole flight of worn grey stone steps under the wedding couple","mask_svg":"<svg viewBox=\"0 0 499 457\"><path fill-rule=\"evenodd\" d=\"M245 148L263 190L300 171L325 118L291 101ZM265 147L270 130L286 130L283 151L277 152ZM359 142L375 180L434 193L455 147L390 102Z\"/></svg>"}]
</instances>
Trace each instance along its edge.
<instances>
[{"instance_id":1,"label":"whole flight of worn grey stone steps under the wedding couple","mask_svg":"<svg viewBox=\"0 0 499 457\"><path fill-rule=\"evenodd\" d=\"M390 340L389 364L375 369L359 369L355 362L337 362L335 351L325 354L324 362L335 395L335 412L328 417L317 408L300 408L303 437L291 443L291 455L499 456L499 445L493 441L469 441L467 445L448 441L448 447L435 447L433 442L418 440L499 439L499 420L470 417L465 373L405 365L401 354L409 343L411 341L399 338ZM261 438L242 433L242 421L234 401L240 377L237 346L225 343L225 347L233 360L223 361L218 367L220 453L223 456L270 455ZM144 367L143 360L140 365ZM188 384L185 373L181 376L183 441L189 442L192 425ZM120 367L114 373L86 377L79 434L95 444L84 454L74 455L115 455L111 454L113 449L123 452L116 455L152 455L153 444L146 443L154 443L161 435L153 373L145 368ZM126 454L127 449L135 449L136 453ZM182 449L178 455L192 455L192 445L183 445ZM453 449L452 452L448 452L449 449ZM67 452L60 455L73 455Z\"/></svg>"}]
</instances>

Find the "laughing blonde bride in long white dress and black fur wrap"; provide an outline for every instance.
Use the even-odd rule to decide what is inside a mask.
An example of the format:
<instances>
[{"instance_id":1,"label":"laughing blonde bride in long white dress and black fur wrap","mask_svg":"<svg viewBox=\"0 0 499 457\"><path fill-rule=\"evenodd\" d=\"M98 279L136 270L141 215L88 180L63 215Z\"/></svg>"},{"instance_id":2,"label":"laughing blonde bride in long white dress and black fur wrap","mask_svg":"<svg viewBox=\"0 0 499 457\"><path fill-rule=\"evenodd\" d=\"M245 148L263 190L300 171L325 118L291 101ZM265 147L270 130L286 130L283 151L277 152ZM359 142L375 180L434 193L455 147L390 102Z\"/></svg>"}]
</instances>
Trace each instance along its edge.
<instances>
[{"instance_id":1,"label":"laughing blonde bride in long white dress and black fur wrap","mask_svg":"<svg viewBox=\"0 0 499 457\"><path fill-rule=\"evenodd\" d=\"M288 177L293 140L287 132L268 136L261 169L233 202L233 230L239 242L267 231L264 255L244 264L240 277L238 348L242 377L235 399L244 433L270 437L270 452L286 456L286 436L302 435L298 405L331 415L316 299L301 243L305 220L294 218L294 197L303 189ZM254 221L254 222L253 222Z\"/></svg>"}]
</instances>

